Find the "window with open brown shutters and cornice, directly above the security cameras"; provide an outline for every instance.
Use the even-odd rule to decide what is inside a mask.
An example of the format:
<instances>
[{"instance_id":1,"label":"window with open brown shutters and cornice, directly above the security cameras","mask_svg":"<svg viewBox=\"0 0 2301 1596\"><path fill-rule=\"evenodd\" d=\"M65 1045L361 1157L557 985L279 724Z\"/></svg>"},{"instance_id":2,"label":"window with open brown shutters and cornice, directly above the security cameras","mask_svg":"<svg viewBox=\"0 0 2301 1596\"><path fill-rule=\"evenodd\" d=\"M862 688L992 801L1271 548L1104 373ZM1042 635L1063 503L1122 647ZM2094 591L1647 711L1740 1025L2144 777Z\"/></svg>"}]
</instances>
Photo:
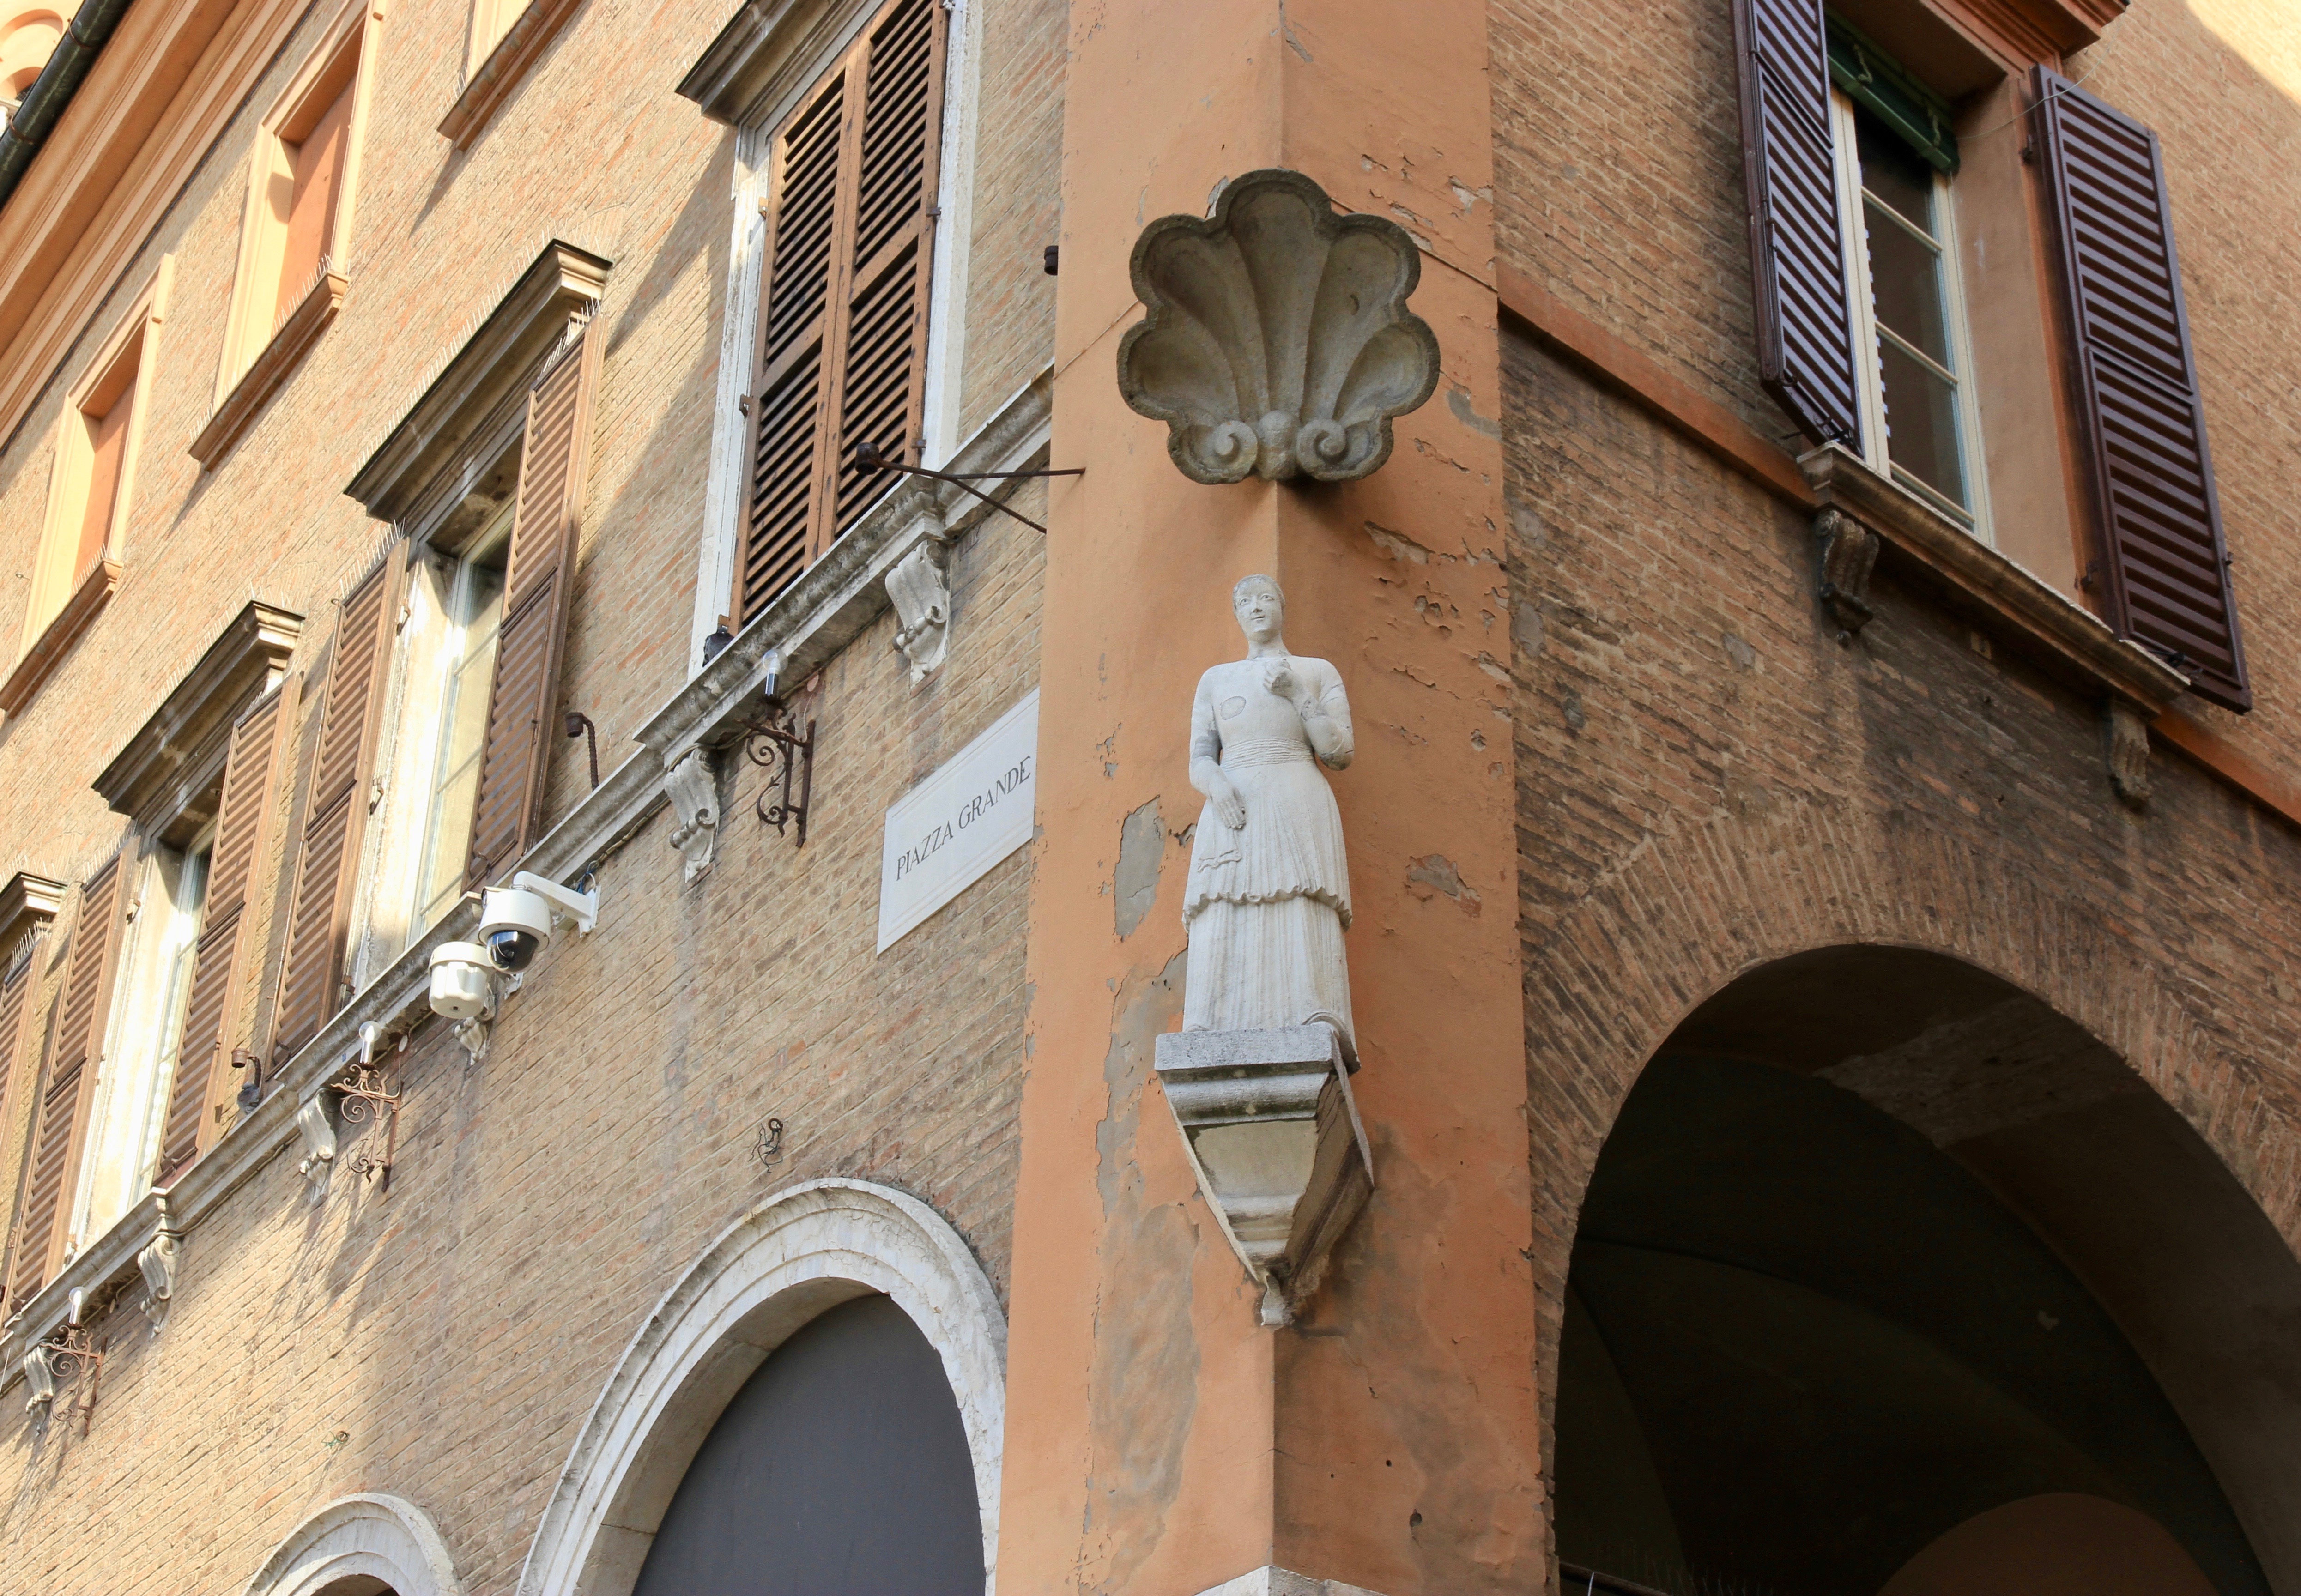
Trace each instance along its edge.
<instances>
[{"instance_id":1,"label":"window with open brown shutters and cornice, directly above the security cameras","mask_svg":"<svg viewBox=\"0 0 2301 1596\"><path fill-rule=\"evenodd\" d=\"M352 481L414 545L352 584L322 667L274 1067L543 832L603 343L571 262L545 248ZM492 435L472 455L439 442L472 432Z\"/></svg>"}]
</instances>

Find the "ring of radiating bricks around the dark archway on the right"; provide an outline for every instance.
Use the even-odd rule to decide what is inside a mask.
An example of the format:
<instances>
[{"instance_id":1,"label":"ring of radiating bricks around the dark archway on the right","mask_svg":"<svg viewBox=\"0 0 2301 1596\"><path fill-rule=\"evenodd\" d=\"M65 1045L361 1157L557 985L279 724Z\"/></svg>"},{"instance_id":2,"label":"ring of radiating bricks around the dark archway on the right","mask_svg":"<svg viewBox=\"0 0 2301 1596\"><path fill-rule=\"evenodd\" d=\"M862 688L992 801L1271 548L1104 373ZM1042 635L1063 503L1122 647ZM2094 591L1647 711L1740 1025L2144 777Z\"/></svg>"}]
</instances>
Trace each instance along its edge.
<instances>
[{"instance_id":1,"label":"ring of radiating bricks around the dark archway on the right","mask_svg":"<svg viewBox=\"0 0 2301 1596\"><path fill-rule=\"evenodd\" d=\"M1891 832L1891 835L1889 835ZM1790 954L1871 943L1963 959L2092 1033L2163 1097L2292 1242L2301 1148L2230 1026L2197 1012L2207 970L2124 936L2122 906L1942 830L1790 807L1659 832L1526 952L1528 1069L1581 1115L1535 1115L1535 1203L1572 1237L1631 1083L1696 1007ZM2232 980L2234 984L2234 980ZM1572 1062L1562 1062L1572 1060ZM1544 1281L1546 1295L1562 1283Z\"/></svg>"}]
</instances>

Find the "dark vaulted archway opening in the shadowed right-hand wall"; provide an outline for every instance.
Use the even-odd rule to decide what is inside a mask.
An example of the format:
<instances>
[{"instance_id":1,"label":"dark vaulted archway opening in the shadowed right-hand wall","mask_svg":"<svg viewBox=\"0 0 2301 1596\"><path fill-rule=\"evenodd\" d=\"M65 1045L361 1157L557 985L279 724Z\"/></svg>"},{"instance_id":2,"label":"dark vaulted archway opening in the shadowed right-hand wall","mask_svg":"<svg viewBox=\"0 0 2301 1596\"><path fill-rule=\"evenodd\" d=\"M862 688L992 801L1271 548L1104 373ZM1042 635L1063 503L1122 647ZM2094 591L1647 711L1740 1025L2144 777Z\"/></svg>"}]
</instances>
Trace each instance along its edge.
<instances>
[{"instance_id":1,"label":"dark vaulted archway opening in the shadowed right-hand wall","mask_svg":"<svg viewBox=\"0 0 2301 1596\"><path fill-rule=\"evenodd\" d=\"M1671 1035L1585 1191L1565 1585L1983 1591L2115 1520L2170 1559L2135 1589L2266 1596L2296 1327L2292 1251L2080 1028L1937 954L1783 959Z\"/></svg>"}]
</instances>

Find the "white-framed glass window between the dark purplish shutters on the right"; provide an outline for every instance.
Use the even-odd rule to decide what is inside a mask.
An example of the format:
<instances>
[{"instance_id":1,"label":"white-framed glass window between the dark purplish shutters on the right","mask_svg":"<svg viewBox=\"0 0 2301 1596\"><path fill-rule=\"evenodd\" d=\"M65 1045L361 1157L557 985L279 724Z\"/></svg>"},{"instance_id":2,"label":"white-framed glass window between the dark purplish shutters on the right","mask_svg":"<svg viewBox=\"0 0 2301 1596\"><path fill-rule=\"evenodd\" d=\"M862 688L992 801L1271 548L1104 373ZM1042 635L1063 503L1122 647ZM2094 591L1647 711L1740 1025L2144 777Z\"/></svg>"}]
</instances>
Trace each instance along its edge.
<instances>
[{"instance_id":1,"label":"white-framed glass window between the dark purplish shutters on the right","mask_svg":"<svg viewBox=\"0 0 2301 1596\"><path fill-rule=\"evenodd\" d=\"M1949 177L1843 90L1829 99L1862 453L1988 540Z\"/></svg>"}]
</instances>

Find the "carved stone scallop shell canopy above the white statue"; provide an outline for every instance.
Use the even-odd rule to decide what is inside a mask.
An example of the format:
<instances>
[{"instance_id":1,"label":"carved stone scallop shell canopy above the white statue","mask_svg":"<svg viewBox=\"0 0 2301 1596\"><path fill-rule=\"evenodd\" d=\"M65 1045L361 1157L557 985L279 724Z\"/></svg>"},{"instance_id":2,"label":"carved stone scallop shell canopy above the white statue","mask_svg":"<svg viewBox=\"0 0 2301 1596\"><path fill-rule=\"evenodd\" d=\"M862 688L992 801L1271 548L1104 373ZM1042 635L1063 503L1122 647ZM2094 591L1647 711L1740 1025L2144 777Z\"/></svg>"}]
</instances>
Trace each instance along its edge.
<instances>
[{"instance_id":1,"label":"carved stone scallop shell canopy above the white statue","mask_svg":"<svg viewBox=\"0 0 2301 1596\"><path fill-rule=\"evenodd\" d=\"M1337 216L1302 172L1247 172L1206 221L1153 221L1132 269L1148 315L1118 343L1118 391L1197 483L1367 476L1390 419L1438 386L1438 338L1406 308L1413 239Z\"/></svg>"}]
</instances>

